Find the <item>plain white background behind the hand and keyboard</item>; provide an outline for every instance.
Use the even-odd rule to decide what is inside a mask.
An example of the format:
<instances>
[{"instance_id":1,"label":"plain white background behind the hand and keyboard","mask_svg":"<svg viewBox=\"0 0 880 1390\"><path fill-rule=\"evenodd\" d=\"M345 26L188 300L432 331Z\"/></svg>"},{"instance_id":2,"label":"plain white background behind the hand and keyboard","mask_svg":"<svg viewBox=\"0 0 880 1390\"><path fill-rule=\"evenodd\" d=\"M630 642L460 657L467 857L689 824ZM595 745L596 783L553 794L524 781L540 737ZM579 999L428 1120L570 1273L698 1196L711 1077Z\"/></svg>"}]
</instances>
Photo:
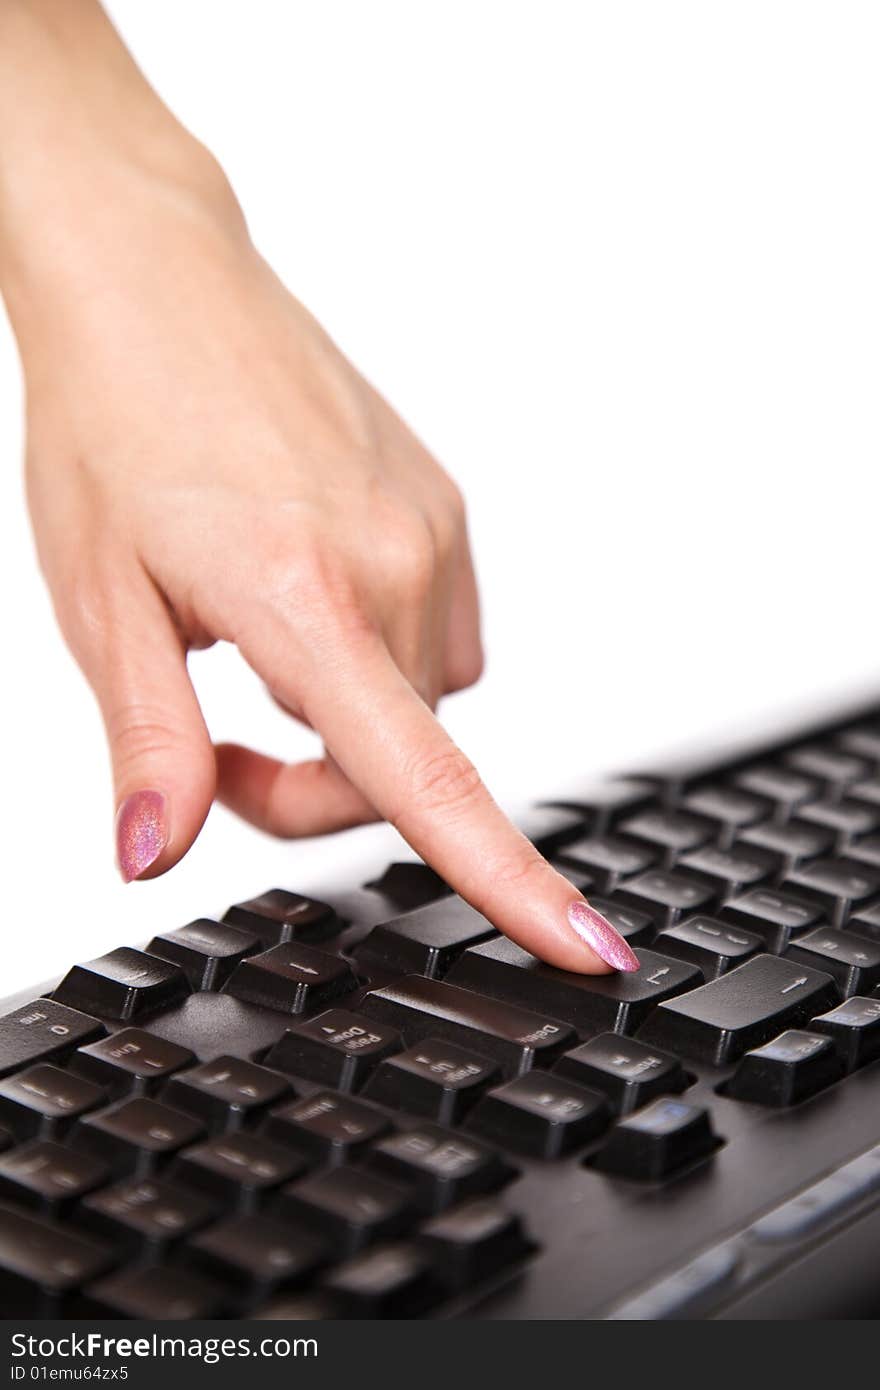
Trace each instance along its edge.
<instances>
[{"instance_id":1,"label":"plain white background behind the hand and keyboard","mask_svg":"<svg viewBox=\"0 0 880 1390\"><path fill-rule=\"evenodd\" d=\"M489 666L445 717L502 799L876 676L876 6L110 8L470 499ZM0 994L350 853L215 810L164 880L118 883L19 411L0 324ZM193 669L217 737L303 751L234 652Z\"/></svg>"}]
</instances>

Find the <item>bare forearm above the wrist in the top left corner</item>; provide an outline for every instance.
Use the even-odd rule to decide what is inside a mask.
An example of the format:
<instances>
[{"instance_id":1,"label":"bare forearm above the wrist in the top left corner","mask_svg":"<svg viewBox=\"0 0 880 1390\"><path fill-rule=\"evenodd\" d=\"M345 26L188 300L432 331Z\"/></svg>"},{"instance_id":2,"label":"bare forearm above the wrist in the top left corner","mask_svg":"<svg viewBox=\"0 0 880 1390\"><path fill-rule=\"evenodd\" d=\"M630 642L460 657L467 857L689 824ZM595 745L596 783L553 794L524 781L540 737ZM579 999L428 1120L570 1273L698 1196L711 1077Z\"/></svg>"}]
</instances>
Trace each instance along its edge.
<instances>
[{"instance_id":1,"label":"bare forearm above the wrist in the top left corner","mask_svg":"<svg viewBox=\"0 0 880 1390\"><path fill-rule=\"evenodd\" d=\"M0 3L0 291L14 327L161 199L236 210L97 0Z\"/></svg>"}]
</instances>

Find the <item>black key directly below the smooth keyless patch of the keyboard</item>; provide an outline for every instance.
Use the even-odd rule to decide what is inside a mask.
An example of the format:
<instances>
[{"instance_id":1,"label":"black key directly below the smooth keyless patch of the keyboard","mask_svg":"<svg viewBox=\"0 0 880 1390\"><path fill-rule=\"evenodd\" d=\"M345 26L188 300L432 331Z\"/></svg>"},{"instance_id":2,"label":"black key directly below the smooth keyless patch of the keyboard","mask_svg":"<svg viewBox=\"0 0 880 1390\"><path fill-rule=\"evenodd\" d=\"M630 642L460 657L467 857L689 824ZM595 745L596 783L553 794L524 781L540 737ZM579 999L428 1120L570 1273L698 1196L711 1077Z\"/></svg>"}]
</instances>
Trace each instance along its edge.
<instances>
[{"instance_id":1,"label":"black key directly below the smooth keyless patch of the keyboard","mask_svg":"<svg viewBox=\"0 0 880 1390\"><path fill-rule=\"evenodd\" d=\"M211 1133L225 1133L242 1129L289 1090L278 1072L238 1056L218 1056L172 1076L163 1101L185 1115L196 1115Z\"/></svg>"}]
</instances>

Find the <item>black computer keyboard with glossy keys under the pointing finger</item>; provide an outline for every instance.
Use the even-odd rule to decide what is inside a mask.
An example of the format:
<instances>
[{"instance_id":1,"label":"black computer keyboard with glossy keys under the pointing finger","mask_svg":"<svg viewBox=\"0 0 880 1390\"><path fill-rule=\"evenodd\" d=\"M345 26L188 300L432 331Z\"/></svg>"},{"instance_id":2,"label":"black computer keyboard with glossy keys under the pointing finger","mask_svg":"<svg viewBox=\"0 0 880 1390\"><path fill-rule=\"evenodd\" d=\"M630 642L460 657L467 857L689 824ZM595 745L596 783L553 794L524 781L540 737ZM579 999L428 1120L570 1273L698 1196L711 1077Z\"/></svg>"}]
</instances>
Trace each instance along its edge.
<instances>
[{"instance_id":1,"label":"black computer keyboard with glossy keys under the pointing finger","mask_svg":"<svg viewBox=\"0 0 880 1390\"><path fill-rule=\"evenodd\" d=\"M416 862L8 1001L0 1314L876 1316L880 709L523 828L638 972Z\"/></svg>"}]
</instances>

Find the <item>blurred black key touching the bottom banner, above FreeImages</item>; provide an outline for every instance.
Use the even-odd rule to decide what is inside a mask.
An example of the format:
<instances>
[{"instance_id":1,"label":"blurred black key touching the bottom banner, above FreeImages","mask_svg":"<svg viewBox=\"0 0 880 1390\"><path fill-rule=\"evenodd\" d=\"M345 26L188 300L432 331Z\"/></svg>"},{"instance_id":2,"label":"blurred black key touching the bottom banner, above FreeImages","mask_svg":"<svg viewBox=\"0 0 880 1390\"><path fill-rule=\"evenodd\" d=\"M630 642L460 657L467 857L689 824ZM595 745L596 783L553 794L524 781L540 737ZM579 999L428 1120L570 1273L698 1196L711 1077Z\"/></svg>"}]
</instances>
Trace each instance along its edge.
<instances>
[{"instance_id":1,"label":"blurred black key touching the bottom banner, above FreeImages","mask_svg":"<svg viewBox=\"0 0 880 1390\"><path fill-rule=\"evenodd\" d=\"M90 1318L138 1318L146 1322L190 1322L193 1318L224 1318L229 1312L227 1293L189 1269L150 1265L125 1269L90 1284L83 1314Z\"/></svg>"}]
</instances>

